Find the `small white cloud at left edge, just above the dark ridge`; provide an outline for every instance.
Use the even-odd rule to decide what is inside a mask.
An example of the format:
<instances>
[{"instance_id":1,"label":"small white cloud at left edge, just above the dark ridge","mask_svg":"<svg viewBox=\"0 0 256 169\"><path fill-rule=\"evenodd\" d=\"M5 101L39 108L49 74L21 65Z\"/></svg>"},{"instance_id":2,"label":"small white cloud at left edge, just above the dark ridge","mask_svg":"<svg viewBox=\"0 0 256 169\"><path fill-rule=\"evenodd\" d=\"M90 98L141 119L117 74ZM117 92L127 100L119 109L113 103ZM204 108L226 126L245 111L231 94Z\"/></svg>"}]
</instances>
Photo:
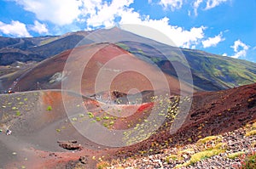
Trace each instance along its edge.
<instances>
[{"instance_id":1,"label":"small white cloud at left edge, just above the dark ridge","mask_svg":"<svg viewBox=\"0 0 256 169\"><path fill-rule=\"evenodd\" d=\"M10 24L0 21L0 31L12 37L31 37L26 30L26 25L16 20L12 20Z\"/></svg>"}]
</instances>

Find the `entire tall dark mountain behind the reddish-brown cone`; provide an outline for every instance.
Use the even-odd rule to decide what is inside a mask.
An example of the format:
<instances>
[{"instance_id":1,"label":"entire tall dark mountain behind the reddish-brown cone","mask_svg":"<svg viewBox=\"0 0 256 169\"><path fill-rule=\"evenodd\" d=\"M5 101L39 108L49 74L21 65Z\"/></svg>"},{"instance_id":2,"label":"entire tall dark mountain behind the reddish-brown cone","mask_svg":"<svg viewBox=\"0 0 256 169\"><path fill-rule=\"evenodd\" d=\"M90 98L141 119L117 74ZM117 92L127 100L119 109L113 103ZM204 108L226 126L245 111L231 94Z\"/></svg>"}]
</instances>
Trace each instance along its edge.
<instances>
[{"instance_id":1,"label":"entire tall dark mountain behind the reddish-brown cone","mask_svg":"<svg viewBox=\"0 0 256 169\"><path fill-rule=\"evenodd\" d=\"M199 90L217 91L256 82L256 64L199 50L175 48L137 36L119 28L97 31L78 31L59 37L7 38L0 37L0 65L15 61L41 61L67 49L93 42L115 43L165 73L178 75ZM186 61L187 60L187 61ZM177 73L178 71L178 73Z\"/></svg>"}]
</instances>

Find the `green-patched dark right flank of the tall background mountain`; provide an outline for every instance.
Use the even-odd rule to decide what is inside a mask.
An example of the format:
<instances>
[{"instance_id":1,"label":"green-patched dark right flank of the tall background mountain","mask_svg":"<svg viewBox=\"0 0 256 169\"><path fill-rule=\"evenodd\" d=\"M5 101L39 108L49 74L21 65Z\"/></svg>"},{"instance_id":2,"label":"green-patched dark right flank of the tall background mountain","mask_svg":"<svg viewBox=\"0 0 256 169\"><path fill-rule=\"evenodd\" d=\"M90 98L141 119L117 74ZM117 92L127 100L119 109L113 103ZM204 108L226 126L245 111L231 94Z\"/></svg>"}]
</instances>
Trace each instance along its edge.
<instances>
[{"instance_id":1,"label":"green-patched dark right flank of the tall background mountain","mask_svg":"<svg viewBox=\"0 0 256 169\"><path fill-rule=\"evenodd\" d=\"M119 42L118 45L141 59L150 59L173 76L177 76L173 65L185 68L189 64L194 85L202 90L216 91L256 82L256 64L246 60L199 50L170 48L161 43L155 45L161 52L140 42ZM183 61L183 57L188 64Z\"/></svg>"}]
</instances>

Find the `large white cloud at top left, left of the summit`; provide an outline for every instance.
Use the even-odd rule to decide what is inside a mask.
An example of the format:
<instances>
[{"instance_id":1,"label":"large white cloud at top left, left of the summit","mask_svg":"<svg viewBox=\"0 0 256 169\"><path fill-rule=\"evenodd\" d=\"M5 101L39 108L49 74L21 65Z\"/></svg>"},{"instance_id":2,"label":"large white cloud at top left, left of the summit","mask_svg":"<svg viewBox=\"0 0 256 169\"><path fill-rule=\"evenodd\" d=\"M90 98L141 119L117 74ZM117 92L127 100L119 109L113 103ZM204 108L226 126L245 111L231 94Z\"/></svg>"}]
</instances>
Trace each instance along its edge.
<instances>
[{"instance_id":1,"label":"large white cloud at top left, left of the summit","mask_svg":"<svg viewBox=\"0 0 256 169\"><path fill-rule=\"evenodd\" d=\"M56 25L71 24L81 13L81 0L15 0L38 20L48 20ZM84 1L85 2L85 1Z\"/></svg>"}]
</instances>

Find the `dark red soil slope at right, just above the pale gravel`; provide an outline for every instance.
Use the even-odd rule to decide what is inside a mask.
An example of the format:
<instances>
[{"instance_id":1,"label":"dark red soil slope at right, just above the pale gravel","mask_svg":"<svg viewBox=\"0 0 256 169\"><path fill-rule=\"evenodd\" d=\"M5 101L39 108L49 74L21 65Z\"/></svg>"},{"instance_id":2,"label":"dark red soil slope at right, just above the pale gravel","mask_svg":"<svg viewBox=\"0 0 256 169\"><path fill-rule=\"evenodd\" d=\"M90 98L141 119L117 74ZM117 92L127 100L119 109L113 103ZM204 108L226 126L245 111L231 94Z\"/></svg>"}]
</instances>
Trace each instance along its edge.
<instances>
[{"instance_id":1,"label":"dark red soil slope at right, just above the pale gravel","mask_svg":"<svg viewBox=\"0 0 256 169\"><path fill-rule=\"evenodd\" d=\"M138 155L139 150L154 149L156 153L160 149L195 143L200 138L230 132L255 120L256 83L219 92L195 93L189 114L176 120L177 123L183 122L177 132L170 132L171 125L160 127L159 132L148 140L120 152L128 156L133 153ZM163 144L165 142L168 145Z\"/></svg>"}]
</instances>

